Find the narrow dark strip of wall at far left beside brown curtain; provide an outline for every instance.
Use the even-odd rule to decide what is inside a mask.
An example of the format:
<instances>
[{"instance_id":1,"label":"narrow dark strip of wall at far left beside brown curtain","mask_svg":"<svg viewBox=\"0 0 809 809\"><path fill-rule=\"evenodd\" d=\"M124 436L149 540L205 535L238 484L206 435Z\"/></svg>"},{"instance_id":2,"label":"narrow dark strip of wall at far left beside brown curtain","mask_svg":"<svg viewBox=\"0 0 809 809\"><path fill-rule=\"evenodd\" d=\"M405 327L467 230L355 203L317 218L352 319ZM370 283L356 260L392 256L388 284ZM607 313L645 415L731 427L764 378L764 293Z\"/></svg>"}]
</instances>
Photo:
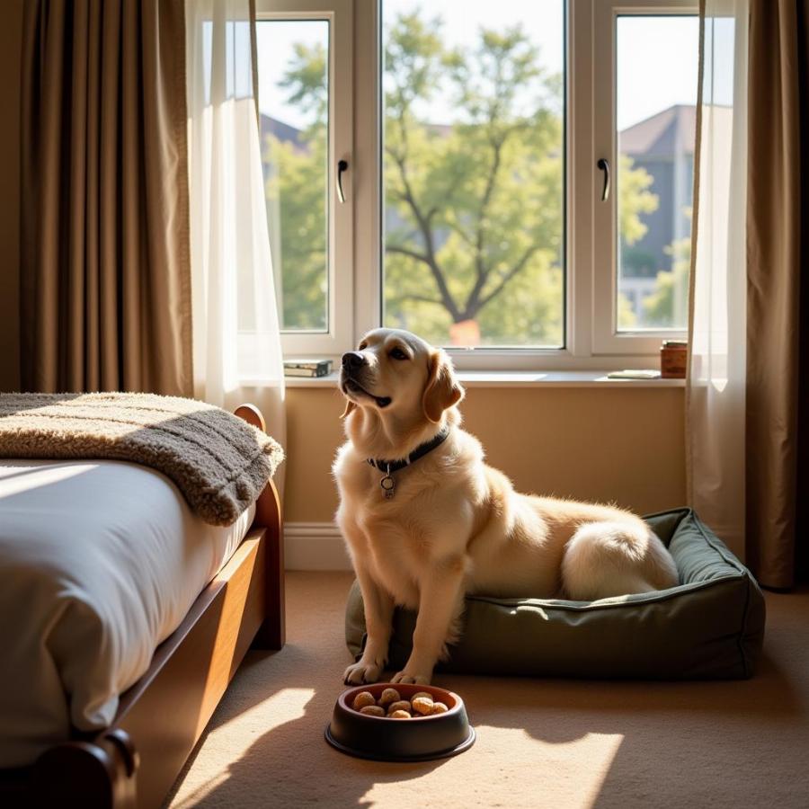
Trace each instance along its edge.
<instances>
[{"instance_id":1,"label":"narrow dark strip of wall at far left beside brown curtain","mask_svg":"<svg viewBox=\"0 0 809 809\"><path fill-rule=\"evenodd\" d=\"M0 25L0 391L20 388L20 47L22 2Z\"/></svg>"}]
</instances>

